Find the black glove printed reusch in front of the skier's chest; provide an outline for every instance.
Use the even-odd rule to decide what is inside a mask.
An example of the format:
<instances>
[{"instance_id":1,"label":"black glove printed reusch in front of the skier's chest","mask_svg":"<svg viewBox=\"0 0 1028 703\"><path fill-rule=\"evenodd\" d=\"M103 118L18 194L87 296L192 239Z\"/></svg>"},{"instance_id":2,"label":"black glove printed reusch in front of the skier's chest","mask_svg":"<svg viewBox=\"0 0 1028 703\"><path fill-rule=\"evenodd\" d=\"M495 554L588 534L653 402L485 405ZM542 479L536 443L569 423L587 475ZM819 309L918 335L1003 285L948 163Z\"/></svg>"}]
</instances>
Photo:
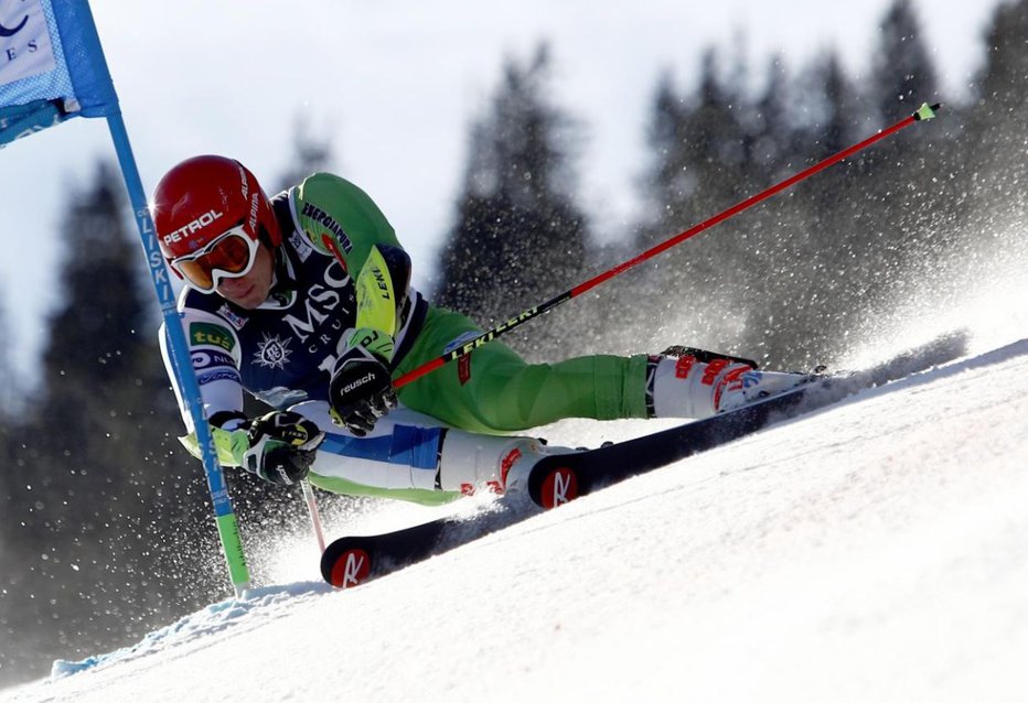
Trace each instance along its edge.
<instances>
[{"instance_id":1,"label":"black glove printed reusch in front of the skier's chest","mask_svg":"<svg viewBox=\"0 0 1028 703\"><path fill-rule=\"evenodd\" d=\"M335 363L329 404L332 419L356 436L371 432L378 418L396 408L396 389L385 361L364 346L347 349Z\"/></svg>"}]
</instances>

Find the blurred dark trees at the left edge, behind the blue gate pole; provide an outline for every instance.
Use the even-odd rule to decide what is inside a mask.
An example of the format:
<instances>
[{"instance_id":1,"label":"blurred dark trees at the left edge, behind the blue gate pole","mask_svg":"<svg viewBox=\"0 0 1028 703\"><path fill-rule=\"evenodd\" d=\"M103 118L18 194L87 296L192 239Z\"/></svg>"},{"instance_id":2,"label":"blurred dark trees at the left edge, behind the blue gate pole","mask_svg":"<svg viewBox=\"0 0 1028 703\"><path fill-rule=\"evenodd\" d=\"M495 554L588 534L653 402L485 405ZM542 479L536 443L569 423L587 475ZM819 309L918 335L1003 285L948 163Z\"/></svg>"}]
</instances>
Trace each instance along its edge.
<instances>
[{"instance_id":1,"label":"blurred dark trees at the left edge, behind the blue gate pole","mask_svg":"<svg viewBox=\"0 0 1028 703\"><path fill-rule=\"evenodd\" d=\"M143 634L203 577L168 566L213 548L193 532L202 485L174 446L119 177L101 165L71 197L40 389L3 426L0 675Z\"/></svg>"}]
</instances>

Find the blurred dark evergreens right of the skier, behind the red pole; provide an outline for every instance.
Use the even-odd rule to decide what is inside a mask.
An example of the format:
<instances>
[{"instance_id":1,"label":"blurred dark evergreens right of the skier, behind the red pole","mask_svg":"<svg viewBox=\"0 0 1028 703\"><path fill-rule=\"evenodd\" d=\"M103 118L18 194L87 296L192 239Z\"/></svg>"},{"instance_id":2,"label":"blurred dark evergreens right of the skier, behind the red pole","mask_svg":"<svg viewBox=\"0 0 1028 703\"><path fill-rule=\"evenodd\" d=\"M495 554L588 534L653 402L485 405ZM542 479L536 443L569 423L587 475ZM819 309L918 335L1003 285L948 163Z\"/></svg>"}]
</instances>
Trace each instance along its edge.
<instances>
[{"instance_id":1,"label":"blurred dark evergreens right of the skier, behind the red pole","mask_svg":"<svg viewBox=\"0 0 1028 703\"><path fill-rule=\"evenodd\" d=\"M574 130L558 127L572 121L546 93L545 62L508 62L471 134L437 299L483 324L502 321L899 121L922 102L941 100L944 111L935 122L876 144L604 283L574 311L559 309L549 324L512 335L536 358L658 350L684 342L775 367L832 364L856 339L880 334L882 321L893 321L897 306L918 290L957 295L971 278L962 266L968 257L997 256L999 242L977 241L974 232L995 209L997 193L1004 202L1022 202L1016 186L1024 174L1017 141L1024 110L1021 91L1011 86L1025 77L1025 47L1017 39L1025 13L1022 2L997 10L986 63L963 104L940 95L910 0L897 0L881 18L869 69L859 79L845 74L834 52L794 73L772 60L756 93L748 67L726 60L718 47L705 52L688 88L665 72L656 80L646 134L646 216L621 247L598 247L588 213L579 208L574 223L580 227L550 215L555 202L575 207L569 147L577 140ZM560 119L540 132L547 122L535 115ZM529 136L555 147L528 149ZM543 218L528 229L524 204L510 204L504 192L513 183L536 183L537 174L550 190L526 192L535 198L529 212ZM583 266L568 266L579 251Z\"/></svg>"}]
</instances>

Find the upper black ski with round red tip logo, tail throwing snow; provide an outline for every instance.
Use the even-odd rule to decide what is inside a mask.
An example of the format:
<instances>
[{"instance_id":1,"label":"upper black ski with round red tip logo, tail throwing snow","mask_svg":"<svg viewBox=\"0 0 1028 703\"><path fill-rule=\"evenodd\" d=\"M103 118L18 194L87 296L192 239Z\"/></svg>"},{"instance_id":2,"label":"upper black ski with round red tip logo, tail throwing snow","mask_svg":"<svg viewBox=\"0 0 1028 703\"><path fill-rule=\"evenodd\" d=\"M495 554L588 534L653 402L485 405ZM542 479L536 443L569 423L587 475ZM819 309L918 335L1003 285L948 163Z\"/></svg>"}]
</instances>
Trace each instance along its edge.
<instances>
[{"instance_id":1,"label":"upper black ski with round red tip logo, tail throwing snow","mask_svg":"<svg viewBox=\"0 0 1028 703\"><path fill-rule=\"evenodd\" d=\"M857 391L881 386L962 354L965 335L941 337L886 363L849 375L815 378L783 393L718 415L597 450L545 456L525 480L532 501L556 508L632 476L706 452L770 424L813 412Z\"/></svg>"}]
</instances>

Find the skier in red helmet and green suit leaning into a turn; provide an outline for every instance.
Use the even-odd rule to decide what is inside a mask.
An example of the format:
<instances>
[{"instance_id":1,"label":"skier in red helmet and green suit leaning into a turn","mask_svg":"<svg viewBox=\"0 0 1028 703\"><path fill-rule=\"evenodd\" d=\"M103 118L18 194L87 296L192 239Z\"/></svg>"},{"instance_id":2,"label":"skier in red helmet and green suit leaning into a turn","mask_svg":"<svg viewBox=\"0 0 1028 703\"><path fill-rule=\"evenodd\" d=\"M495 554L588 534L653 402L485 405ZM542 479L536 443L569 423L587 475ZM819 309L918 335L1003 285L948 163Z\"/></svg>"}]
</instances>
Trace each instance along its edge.
<instances>
[{"instance_id":1,"label":"skier in red helmet and green suit leaning into a turn","mask_svg":"<svg viewBox=\"0 0 1028 703\"><path fill-rule=\"evenodd\" d=\"M704 418L809 378L696 356L533 365L493 340L397 390L393 379L481 329L410 285L409 257L357 186L317 173L268 198L240 163L204 155L171 169L151 207L188 284L178 307L218 458L274 484L426 505L502 493L542 455L569 451L507 433L564 418ZM247 417L244 389L274 410Z\"/></svg>"}]
</instances>

